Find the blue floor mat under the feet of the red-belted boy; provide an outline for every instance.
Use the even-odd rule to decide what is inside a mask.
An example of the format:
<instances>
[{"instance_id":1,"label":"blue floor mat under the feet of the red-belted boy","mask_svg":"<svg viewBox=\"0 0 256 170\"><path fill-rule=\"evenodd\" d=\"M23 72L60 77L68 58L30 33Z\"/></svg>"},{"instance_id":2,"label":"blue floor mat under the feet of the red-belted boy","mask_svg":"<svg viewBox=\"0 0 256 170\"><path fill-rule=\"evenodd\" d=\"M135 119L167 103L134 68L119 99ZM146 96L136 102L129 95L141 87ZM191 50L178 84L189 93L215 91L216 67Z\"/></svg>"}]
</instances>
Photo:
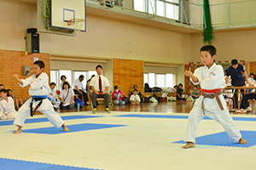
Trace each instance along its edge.
<instances>
[{"instance_id":1,"label":"blue floor mat under the feet of the red-belted boy","mask_svg":"<svg viewBox=\"0 0 256 170\"><path fill-rule=\"evenodd\" d=\"M229 146L248 148L256 145L256 131L240 131L243 139L247 144L231 143L227 133L213 133L206 136L201 136L195 139L195 144L214 145L214 146ZM173 142L175 144L186 144L183 140Z\"/></svg>"}]
</instances>

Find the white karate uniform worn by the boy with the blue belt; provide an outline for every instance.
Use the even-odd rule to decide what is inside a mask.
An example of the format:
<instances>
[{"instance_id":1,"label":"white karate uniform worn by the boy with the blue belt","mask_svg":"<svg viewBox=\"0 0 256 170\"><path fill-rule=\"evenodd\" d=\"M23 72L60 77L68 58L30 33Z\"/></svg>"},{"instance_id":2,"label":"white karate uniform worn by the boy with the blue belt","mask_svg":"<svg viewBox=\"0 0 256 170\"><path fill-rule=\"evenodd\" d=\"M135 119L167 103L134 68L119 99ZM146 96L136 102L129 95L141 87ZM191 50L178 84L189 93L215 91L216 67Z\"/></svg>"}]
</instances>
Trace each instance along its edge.
<instances>
[{"instance_id":1,"label":"white karate uniform worn by the boy with the blue belt","mask_svg":"<svg viewBox=\"0 0 256 170\"><path fill-rule=\"evenodd\" d=\"M32 96L43 96L48 95L49 88L49 77L46 73L42 72L39 77L36 78L36 75L32 75L31 77L27 77L25 80L21 80L23 84L20 84L20 87L24 88L30 85L28 90L29 95ZM25 104L20 107L18 115L15 118L15 125L23 126L26 118L30 116L30 104L32 102L32 98L26 100ZM40 101L33 100L32 108L34 109ZM59 128L63 125L63 120L61 116L57 112L54 111L53 105L50 103L49 99L43 99L42 105L38 108L38 111L42 112L49 122L51 122L55 127Z\"/></svg>"}]
</instances>

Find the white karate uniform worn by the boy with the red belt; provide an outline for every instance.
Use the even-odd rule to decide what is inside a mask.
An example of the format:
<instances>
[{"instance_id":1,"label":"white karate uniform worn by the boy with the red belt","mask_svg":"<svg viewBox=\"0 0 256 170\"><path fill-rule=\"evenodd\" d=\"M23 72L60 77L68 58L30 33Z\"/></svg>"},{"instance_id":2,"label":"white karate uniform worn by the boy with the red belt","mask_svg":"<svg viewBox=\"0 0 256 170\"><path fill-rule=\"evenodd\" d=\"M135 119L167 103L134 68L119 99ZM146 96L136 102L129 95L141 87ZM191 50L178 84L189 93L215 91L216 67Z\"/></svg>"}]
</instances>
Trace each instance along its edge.
<instances>
[{"instance_id":1,"label":"white karate uniform worn by the boy with the red belt","mask_svg":"<svg viewBox=\"0 0 256 170\"><path fill-rule=\"evenodd\" d=\"M221 65L216 65L214 63L210 69L208 69L207 66L202 66L195 70L194 76L198 78L199 82L193 82L191 78L190 81L195 85L200 83L202 89L212 90L225 87L224 71ZM204 115L201 108L201 102L204 97L201 95L195 100L195 105L189 113L189 120L184 138L185 142L195 143L196 127L204 116L209 116L213 120L219 122L224 127L231 142L236 143L241 139L241 133L236 126L236 122L234 122L230 116L224 96L220 94L218 97L224 107L224 111L221 111L219 108L217 99L205 98L203 107L206 115ZM212 143L214 143L214 141L212 141Z\"/></svg>"}]
</instances>

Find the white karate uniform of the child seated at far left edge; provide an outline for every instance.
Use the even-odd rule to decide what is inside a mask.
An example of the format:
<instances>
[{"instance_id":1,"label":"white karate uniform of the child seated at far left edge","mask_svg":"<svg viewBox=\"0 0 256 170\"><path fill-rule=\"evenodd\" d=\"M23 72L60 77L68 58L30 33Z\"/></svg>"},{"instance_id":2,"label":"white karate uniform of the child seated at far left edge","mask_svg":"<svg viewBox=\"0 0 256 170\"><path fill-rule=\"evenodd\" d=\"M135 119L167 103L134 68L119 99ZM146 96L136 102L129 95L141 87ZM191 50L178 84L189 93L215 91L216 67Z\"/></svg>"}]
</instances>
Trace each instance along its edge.
<instances>
[{"instance_id":1,"label":"white karate uniform of the child seated at far left edge","mask_svg":"<svg viewBox=\"0 0 256 170\"><path fill-rule=\"evenodd\" d=\"M0 119L15 119L18 111L15 111L15 101L11 97L7 97L8 102L5 99L0 101L0 112L5 116L1 116Z\"/></svg>"}]
</instances>

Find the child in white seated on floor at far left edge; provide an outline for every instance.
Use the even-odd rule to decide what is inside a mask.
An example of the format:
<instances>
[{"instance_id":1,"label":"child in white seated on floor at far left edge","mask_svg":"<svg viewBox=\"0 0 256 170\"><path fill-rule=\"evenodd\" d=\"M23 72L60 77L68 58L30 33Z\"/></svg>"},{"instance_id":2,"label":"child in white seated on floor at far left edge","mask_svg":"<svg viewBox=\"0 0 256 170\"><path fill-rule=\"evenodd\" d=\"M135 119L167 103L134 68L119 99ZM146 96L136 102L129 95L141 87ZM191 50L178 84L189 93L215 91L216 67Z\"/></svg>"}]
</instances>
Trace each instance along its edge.
<instances>
[{"instance_id":1,"label":"child in white seated on floor at far left edge","mask_svg":"<svg viewBox=\"0 0 256 170\"><path fill-rule=\"evenodd\" d=\"M15 111L15 101L11 97L7 97L7 90L0 90L0 97L2 100L0 101L0 119L15 119L18 114L18 111Z\"/></svg>"}]
</instances>

